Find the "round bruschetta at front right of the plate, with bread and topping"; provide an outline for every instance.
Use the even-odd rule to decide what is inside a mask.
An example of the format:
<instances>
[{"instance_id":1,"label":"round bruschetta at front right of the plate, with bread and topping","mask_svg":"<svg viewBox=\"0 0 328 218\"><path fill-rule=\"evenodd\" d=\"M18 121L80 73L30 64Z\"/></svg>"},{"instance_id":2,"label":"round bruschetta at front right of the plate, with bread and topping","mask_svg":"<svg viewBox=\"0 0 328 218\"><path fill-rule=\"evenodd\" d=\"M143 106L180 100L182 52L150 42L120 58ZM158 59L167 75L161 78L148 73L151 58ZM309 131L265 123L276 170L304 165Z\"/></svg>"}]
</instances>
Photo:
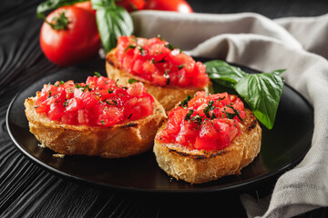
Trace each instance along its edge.
<instances>
[{"instance_id":1,"label":"round bruschetta at front right of the plate, with bread and topping","mask_svg":"<svg viewBox=\"0 0 328 218\"><path fill-rule=\"evenodd\" d=\"M235 95L198 92L168 115L153 151L159 167L177 180L207 183L238 174L260 152L260 124Z\"/></svg>"}]
</instances>

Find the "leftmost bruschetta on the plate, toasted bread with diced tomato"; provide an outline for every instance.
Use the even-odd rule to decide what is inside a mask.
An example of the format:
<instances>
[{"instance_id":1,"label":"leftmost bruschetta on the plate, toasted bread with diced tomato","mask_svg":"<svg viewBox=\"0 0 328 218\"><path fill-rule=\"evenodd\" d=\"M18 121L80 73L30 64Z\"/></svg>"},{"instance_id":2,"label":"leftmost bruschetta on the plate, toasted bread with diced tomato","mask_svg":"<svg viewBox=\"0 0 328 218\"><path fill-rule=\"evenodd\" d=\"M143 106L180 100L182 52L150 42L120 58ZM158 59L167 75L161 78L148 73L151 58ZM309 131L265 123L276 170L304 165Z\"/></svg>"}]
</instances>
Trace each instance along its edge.
<instances>
[{"instance_id":1,"label":"leftmost bruschetta on the plate, toasted bread with diced tomato","mask_svg":"<svg viewBox=\"0 0 328 218\"><path fill-rule=\"evenodd\" d=\"M165 110L141 83L100 75L86 83L45 84L26 99L30 132L59 154L127 157L151 149Z\"/></svg>"}]
</instances>

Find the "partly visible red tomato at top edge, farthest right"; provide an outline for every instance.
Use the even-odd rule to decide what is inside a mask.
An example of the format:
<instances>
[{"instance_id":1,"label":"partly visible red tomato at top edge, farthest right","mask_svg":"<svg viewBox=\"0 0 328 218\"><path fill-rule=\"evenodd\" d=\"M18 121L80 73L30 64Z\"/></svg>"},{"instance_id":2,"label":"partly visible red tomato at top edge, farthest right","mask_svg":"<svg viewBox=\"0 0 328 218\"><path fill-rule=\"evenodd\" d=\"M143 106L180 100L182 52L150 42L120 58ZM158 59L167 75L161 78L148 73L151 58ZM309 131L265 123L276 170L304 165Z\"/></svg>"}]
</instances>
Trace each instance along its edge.
<instances>
[{"instance_id":1,"label":"partly visible red tomato at top edge, farthest right","mask_svg":"<svg viewBox=\"0 0 328 218\"><path fill-rule=\"evenodd\" d=\"M149 10L176 11L180 13L192 13L191 6L185 0L149 0L145 8Z\"/></svg>"}]
</instances>

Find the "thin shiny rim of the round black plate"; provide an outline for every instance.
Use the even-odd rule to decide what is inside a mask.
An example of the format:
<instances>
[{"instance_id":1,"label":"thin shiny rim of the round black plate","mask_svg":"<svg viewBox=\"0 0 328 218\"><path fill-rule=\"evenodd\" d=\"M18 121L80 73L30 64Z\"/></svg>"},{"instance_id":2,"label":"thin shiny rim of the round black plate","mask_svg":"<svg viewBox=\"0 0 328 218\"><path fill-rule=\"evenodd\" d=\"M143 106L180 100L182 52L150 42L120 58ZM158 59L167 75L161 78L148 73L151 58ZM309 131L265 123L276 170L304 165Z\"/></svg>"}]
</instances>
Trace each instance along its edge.
<instances>
[{"instance_id":1,"label":"thin shiny rim of the round black plate","mask_svg":"<svg viewBox=\"0 0 328 218\"><path fill-rule=\"evenodd\" d=\"M250 69L251 71L260 72L258 70L251 69L250 67L244 66L244 65L241 65L241 64L235 64L235 65L238 66L238 67L243 67L243 68L246 68L246 69ZM58 71L61 71L61 70L64 70L64 68L60 69ZM56 72L58 72L58 71L56 71ZM54 74L56 74L56 73L54 73ZM37 83L41 80L44 80L47 76L51 76L51 75L52 74L47 74L45 76L42 76L41 78L36 80L35 83ZM300 94L297 90L295 90L291 85L286 84L286 83L284 83L284 85L287 86L288 88L290 88L294 93L298 94L302 98L302 101L308 106L308 109L310 109L311 114L312 114L312 120L314 120L313 106L309 103L309 101L302 94ZM13 143L15 144L15 147L18 148L20 153L24 154L27 157L28 160L31 160L32 163L36 163L38 166L41 166L43 169L46 169L47 172L53 173L53 174L55 173L56 175L58 175L62 178L67 178L70 181L75 181L77 183L86 183L87 185L90 185L90 186L110 188L110 189L122 190L122 191L128 191L128 192L141 192L141 193L182 193L182 194L185 194L185 193L219 193L219 192L225 192L225 191L236 191L236 190L246 188L250 185L259 183L261 181L267 180L267 179L271 178L272 176L280 175L281 173L287 171L289 168L291 168L291 167L295 166L296 164L300 163L302 161L302 158L308 153L308 151L312 147L313 129L310 133L312 136L311 136L311 140L309 140L309 144L307 144L306 147L302 149L303 151L301 151L299 155L294 156L292 158L292 160L289 161L289 163L285 164L284 166L282 166L278 170L275 170L271 173L265 173L265 174L262 174L262 175L260 175L256 178L247 179L247 180L242 181L241 183L235 183L235 184L231 184L231 185L223 186L223 187L210 186L210 187L197 187L196 189L188 189L188 190L176 190L176 189L174 189L174 190L163 190L163 189L127 187L127 186L119 186L119 185L116 185L116 184L108 184L108 183L100 183L100 182L89 181L89 180L86 180L84 178L80 178L76 175L72 175L72 174L69 174L69 173L62 172L62 171L56 169L55 167L52 167L52 166L50 166L46 163L43 163L37 157L35 157L33 154L28 153L28 151L26 151L24 146L20 145L15 140L14 134L12 133L12 130L10 128L9 116L10 116L13 104L15 104L15 100L18 98L18 96L20 94L22 94L24 91L26 91L27 88L28 87L26 87L23 90L20 90L17 94L15 94L15 96L11 100L10 104L8 105L8 108L7 108L6 114L5 114L5 126L6 126L6 129L7 129L7 134L9 134L9 137L13 141ZM256 158L258 158L258 156Z\"/></svg>"}]
</instances>

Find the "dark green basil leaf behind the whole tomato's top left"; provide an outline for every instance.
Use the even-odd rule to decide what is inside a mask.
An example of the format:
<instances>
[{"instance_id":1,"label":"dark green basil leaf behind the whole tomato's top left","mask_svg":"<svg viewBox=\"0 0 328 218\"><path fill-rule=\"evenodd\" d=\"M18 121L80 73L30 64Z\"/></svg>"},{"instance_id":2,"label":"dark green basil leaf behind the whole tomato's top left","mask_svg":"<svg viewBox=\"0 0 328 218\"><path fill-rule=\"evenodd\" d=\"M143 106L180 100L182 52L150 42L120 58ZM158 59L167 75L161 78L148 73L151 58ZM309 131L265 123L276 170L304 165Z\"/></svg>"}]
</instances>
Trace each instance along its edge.
<instances>
[{"instance_id":1,"label":"dark green basil leaf behind the whole tomato's top left","mask_svg":"<svg viewBox=\"0 0 328 218\"><path fill-rule=\"evenodd\" d=\"M53 10L61 6L74 5L87 0L47 0L36 7L36 14L38 18L45 18L45 13L48 10Z\"/></svg>"}]
</instances>

